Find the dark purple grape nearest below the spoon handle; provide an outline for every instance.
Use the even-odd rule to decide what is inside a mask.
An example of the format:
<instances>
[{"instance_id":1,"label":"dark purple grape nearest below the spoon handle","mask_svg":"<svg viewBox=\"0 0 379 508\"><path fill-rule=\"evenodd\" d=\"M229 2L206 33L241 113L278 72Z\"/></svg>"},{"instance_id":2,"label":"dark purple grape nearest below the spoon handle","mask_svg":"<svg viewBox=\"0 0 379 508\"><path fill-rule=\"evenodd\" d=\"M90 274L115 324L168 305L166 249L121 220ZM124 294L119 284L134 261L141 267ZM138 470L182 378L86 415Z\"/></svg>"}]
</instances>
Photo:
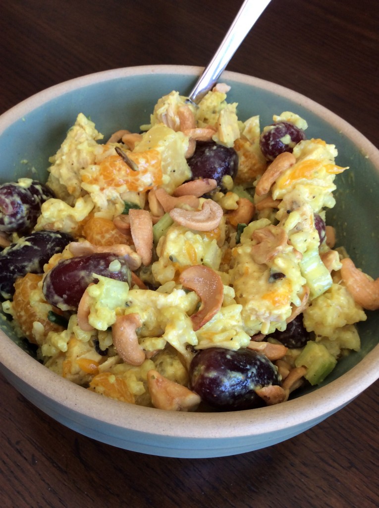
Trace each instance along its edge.
<instances>
[{"instance_id":1,"label":"dark purple grape nearest below the spoon handle","mask_svg":"<svg viewBox=\"0 0 379 508\"><path fill-rule=\"evenodd\" d=\"M234 178L238 169L238 155L234 148L214 141L197 141L195 152L187 162L192 171L192 180L213 178L218 185L226 175Z\"/></svg>"}]
</instances>

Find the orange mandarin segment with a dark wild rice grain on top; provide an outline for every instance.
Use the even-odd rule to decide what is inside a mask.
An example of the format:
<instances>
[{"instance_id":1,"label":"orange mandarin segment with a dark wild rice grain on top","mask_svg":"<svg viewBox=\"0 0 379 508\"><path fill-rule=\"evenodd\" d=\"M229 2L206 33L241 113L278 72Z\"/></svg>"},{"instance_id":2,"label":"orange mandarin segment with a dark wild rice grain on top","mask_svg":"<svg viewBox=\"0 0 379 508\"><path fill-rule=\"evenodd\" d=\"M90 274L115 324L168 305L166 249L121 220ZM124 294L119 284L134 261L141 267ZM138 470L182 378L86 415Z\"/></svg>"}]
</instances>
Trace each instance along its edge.
<instances>
[{"instance_id":1,"label":"orange mandarin segment with a dark wild rice grain on top","mask_svg":"<svg viewBox=\"0 0 379 508\"><path fill-rule=\"evenodd\" d=\"M127 190L144 192L162 183L161 155L158 150L127 152L138 171L131 169L119 155L110 155L90 174L83 174L84 183L108 187L126 186Z\"/></svg>"}]
</instances>

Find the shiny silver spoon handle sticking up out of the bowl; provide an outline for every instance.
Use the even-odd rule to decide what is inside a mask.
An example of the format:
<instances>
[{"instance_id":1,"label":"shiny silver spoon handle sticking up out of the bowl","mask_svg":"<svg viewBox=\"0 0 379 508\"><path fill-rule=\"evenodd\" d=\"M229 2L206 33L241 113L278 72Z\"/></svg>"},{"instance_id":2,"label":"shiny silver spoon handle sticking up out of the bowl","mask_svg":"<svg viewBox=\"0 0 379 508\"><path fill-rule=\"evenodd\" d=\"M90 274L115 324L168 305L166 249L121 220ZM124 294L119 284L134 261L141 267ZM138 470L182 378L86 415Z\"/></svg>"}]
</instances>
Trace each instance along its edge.
<instances>
[{"instance_id":1,"label":"shiny silver spoon handle sticking up out of the bowl","mask_svg":"<svg viewBox=\"0 0 379 508\"><path fill-rule=\"evenodd\" d=\"M269 3L270 0L245 0L208 67L192 89L189 95L191 102L197 104L216 84L231 57Z\"/></svg>"}]
</instances>

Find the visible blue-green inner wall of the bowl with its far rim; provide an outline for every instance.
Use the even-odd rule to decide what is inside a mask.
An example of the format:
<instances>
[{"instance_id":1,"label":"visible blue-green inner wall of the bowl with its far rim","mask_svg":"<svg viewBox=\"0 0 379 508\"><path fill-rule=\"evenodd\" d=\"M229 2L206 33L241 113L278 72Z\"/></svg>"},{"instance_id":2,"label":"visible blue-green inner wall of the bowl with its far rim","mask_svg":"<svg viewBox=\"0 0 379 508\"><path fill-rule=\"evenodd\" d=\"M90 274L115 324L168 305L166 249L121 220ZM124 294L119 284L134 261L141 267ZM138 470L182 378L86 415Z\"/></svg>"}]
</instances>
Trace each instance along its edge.
<instances>
[{"instance_id":1,"label":"visible blue-green inner wall of the bowl with its far rim","mask_svg":"<svg viewBox=\"0 0 379 508\"><path fill-rule=\"evenodd\" d=\"M174 89L188 94L199 72L198 68L167 66L107 71L33 96L0 117L0 182L21 176L45 181L48 158L57 151L79 112L95 122L105 139L119 129L137 132L141 124L149 122L161 96ZM272 122L273 114L293 111L307 120L308 138L322 138L337 146L337 164L351 169L336 177L337 204L327 213L327 221L337 229L337 244L346 247L359 267L377 277L378 151L352 126L300 94L235 73L224 73L222 80L231 85L228 101L238 103L241 120L259 114L263 127ZM341 360L324 385L356 366L377 345L379 313L367 314L367 321L358 326L361 351ZM5 317L0 326L25 347Z\"/></svg>"}]
</instances>

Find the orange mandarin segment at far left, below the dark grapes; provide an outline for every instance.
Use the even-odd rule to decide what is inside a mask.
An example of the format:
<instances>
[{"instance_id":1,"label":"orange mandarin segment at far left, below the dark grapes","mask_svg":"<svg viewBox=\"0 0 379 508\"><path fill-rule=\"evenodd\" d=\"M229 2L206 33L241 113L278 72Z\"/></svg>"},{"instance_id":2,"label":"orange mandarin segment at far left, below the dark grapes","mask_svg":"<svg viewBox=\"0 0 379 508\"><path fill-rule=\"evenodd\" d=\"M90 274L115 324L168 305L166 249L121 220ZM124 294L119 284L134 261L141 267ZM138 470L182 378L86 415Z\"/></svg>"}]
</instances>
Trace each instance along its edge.
<instances>
[{"instance_id":1,"label":"orange mandarin segment at far left, below the dark grapes","mask_svg":"<svg viewBox=\"0 0 379 508\"><path fill-rule=\"evenodd\" d=\"M38 283L42 280L42 275L36 273L27 273L25 277L16 279L15 282L15 294L13 297L13 310L15 312L16 320L18 321L22 333L33 344L37 344L36 338L33 335L33 322L38 321L44 327L44 337L51 331L60 332L63 330L61 326L58 326L47 319L47 312L45 305L47 303L44 300L37 302L36 305L30 303L30 294L33 290L37 289ZM43 314L39 314L39 305L41 303L44 306ZM54 312L61 313L60 310L51 307ZM40 310L41 306L40 306Z\"/></svg>"}]
</instances>

